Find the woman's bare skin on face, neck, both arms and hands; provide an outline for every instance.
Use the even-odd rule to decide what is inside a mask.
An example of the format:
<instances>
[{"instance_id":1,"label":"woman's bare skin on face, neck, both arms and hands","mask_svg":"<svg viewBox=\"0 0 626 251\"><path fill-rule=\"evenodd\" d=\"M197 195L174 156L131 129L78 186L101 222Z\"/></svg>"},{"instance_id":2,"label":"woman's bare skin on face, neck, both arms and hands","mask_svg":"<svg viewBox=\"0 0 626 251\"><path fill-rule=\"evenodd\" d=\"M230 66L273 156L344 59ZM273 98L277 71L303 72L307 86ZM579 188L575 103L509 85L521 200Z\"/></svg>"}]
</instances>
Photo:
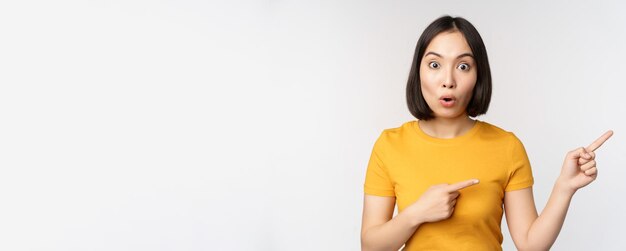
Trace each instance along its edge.
<instances>
[{"instance_id":1,"label":"woman's bare skin on face, neck, both arms and hands","mask_svg":"<svg viewBox=\"0 0 626 251\"><path fill-rule=\"evenodd\" d=\"M420 77L422 93L435 115L434 119L420 120L420 128L438 138L454 138L470 130L475 121L465 108L471 99L477 71L471 49L460 32L443 32L431 41L421 60ZM439 102L441 95L448 94L457 98L449 108ZM532 187L505 192L507 224L518 250L550 249L563 226L573 195L598 175L594 151L612 135L608 131L589 146L567 153L541 215L537 214ZM468 179L432 186L396 217L392 217L395 197L364 195L362 250L400 249L421 224L452 216L458 191L478 182Z\"/></svg>"}]
</instances>

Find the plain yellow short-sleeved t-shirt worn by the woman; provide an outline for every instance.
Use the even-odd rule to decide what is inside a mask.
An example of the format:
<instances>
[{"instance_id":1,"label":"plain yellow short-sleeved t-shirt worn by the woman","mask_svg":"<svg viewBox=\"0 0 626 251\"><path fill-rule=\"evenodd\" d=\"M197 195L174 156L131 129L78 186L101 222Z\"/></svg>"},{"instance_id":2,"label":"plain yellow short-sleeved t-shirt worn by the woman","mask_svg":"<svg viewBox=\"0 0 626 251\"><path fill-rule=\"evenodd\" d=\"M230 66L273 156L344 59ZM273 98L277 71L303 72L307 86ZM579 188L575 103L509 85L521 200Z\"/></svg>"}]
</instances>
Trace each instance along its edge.
<instances>
[{"instance_id":1,"label":"plain yellow short-sleeved t-shirt worn by the woman","mask_svg":"<svg viewBox=\"0 0 626 251\"><path fill-rule=\"evenodd\" d=\"M386 129L374 144L364 190L395 196L402 212L432 185L472 178L480 183L460 190L452 216L420 225L403 250L502 250L504 192L533 185L526 150L511 132L478 120L452 139L425 134L416 120Z\"/></svg>"}]
</instances>

